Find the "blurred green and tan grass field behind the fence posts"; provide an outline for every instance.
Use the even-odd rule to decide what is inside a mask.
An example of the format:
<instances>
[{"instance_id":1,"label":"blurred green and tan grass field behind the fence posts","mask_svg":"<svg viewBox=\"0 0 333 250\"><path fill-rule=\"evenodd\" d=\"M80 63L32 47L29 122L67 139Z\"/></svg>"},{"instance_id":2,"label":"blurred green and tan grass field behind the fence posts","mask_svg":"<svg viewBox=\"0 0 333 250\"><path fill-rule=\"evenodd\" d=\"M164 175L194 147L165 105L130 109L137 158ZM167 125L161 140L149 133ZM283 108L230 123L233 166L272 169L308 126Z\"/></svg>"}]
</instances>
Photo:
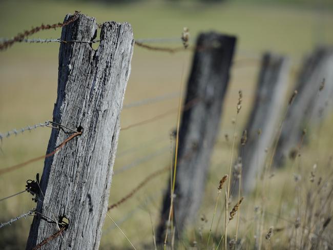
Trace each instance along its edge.
<instances>
[{"instance_id":1,"label":"blurred green and tan grass field behind the fence posts","mask_svg":"<svg viewBox=\"0 0 333 250\"><path fill-rule=\"evenodd\" d=\"M238 37L235 66L232 69L231 84L223 105L220 134L210 169L210 179L206 186L206 196L200 210L207 218L212 217L215 205L216 188L219 179L228 172L231 145L224 135L233 133L232 118L236 114L238 90L243 91L243 108L237 124L241 133L248 111L251 109L255 84L262 52L269 50L288 55L292 60L290 90L293 89L295 74L301 59L315 46L333 45L333 2L327 1L2 1L0 3L0 37L12 37L18 32L39 26L41 23L62 22L67 13L75 10L94 16L98 23L108 20L129 22L134 38L177 38L183 27L189 27L191 42L201 31L215 30ZM60 29L42 31L33 37L58 38ZM180 41L166 46L180 46ZM97 45L96 45L97 46ZM165 44L164 44L165 46ZM5 133L14 128L26 127L52 119L56 100L59 44L14 44L0 53L0 131ZM185 60L184 81L191 67L192 52L177 54L154 52L135 47L132 71L124 104L144 98L174 93L179 90ZM167 110L177 108L178 98L161 101L152 105L124 109L121 113L121 126L148 119ZM327 164L332 145L332 119L329 115L321 127L320 134L314 130L314 137L302 153L304 173L315 162L318 166ZM118 154L114 170L157 154L150 161L138 164L130 171L115 175L112 180L110 203L118 201L130 192L141 180L155 169L170 162L170 133L175 129L177 114L120 132ZM320 137L318 137L320 135ZM0 168L20 163L46 152L50 129L40 128L25 132L1 142ZM315 141L315 143L311 143ZM318 142L319 141L319 142ZM126 151L135 148L131 154ZM156 151L160 153L156 153ZM320 169L320 168L319 168ZM0 176L0 198L25 189L26 180L34 179L43 170L43 161L26 168ZM320 172L320 170L319 170ZM272 178L272 197L281 198L281 183L292 177L285 168ZM305 176L307 178L307 176ZM152 225L158 222L158 212L162 191L165 189L168 174L154 179L121 207L112 210L110 215L126 232L138 249L152 248ZM291 182L290 182L291 183ZM292 183L290 184L292 185ZM288 199L288 197L285 197ZM246 198L250 200L251 198ZM292 200L293 198L291 198ZM29 194L22 194L0 202L0 221L7 221L34 207ZM244 207L254 204L244 203ZM270 209L276 213L274 202ZM246 209L245 209L246 210ZM269 211L269 209L268 209ZM248 212L250 213L250 212ZM289 215L286 215L288 217ZM272 217L272 223L276 222ZM274 221L274 222L273 222ZM0 248L23 249L30 227L31 218L2 228ZM198 218L198 225L200 224ZM204 224L205 230L209 224ZM241 234L246 234L246 228ZM248 237L253 237L249 234ZM279 239L283 241L283 239ZM276 244L279 244L278 242ZM108 217L105 221L101 249L126 249L128 242L115 228Z\"/></svg>"}]
</instances>

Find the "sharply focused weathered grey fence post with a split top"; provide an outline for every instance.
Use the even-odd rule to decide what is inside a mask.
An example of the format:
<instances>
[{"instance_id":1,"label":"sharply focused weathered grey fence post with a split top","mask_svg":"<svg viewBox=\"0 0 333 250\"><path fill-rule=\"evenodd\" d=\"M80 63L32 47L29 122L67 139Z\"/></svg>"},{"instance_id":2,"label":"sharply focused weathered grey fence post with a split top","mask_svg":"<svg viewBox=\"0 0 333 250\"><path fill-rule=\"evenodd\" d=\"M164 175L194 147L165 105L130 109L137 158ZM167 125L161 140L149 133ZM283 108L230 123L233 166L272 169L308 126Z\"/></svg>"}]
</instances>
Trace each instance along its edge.
<instances>
[{"instance_id":1,"label":"sharply focused weathered grey fence post with a split top","mask_svg":"<svg viewBox=\"0 0 333 250\"><path fill-rule=\"evenodd\" d=\"M70 18L67 15L65 21ZM69 220L67 230L49 241L45 249L99 246L134 40L130 24L108 22L101 27L96 51L89 43L70 42L91 41L96 30L95 18L79 14L61 33L67 43L60 45L53 121L82 131L82 135L45 160L39 214L31 225L26 249L56 233L57 226L51 220L62 217ZM47 153L68 137L64 131L53 129Z\"/></svg>"}]
</instances>

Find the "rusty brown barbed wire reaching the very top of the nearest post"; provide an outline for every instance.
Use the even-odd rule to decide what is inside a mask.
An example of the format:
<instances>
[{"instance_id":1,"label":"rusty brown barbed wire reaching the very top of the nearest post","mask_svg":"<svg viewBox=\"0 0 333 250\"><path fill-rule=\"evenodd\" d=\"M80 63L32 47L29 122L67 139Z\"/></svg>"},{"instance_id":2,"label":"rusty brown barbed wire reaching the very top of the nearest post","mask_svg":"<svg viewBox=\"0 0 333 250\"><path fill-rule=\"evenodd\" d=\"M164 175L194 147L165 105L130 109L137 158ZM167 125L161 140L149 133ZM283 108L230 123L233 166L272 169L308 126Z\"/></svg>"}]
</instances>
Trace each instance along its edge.
<instances>
[{"instance_id":1,"label":"rusty brown barbed wire reaching the very top of the nearest post","mask_svg":"<svg viewBox=\"0 0 333 250\"><path fill-rule=\"evenodd\" d=\"M73 23L78 18L78 14L79 14L79 11L75 11L73 16L67 22L57 23L57 24L53 24L53 25L44 25L44 24L42 24L38 27L34 27L30 30L26 30L23 33L18 33L13 38L1 42L0 43L0 50L5 50L5 49L9 48L10 46L12 46L14 43L22 41L25 37L27 37L29 35L32 35L32 34L35 34L38 31L56 29L56 28L61 28L61 27L64 27L66 25L69 25L69 24Z\"/></svg>"}]
</instances>

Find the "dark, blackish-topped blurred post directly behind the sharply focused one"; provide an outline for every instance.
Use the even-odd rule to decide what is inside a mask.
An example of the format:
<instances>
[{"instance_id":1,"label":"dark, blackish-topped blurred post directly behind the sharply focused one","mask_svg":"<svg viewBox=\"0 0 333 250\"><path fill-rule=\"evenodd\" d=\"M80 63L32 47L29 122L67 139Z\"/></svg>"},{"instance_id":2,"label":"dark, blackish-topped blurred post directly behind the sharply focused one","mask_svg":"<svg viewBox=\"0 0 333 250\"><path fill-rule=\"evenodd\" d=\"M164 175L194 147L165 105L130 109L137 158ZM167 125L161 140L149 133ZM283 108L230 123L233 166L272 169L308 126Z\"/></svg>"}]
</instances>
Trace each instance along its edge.
<instances>
[{"instance_id":1,"label":"dark, blackish-topped blurred post directly behind the sharply focused one","mask_svg":"<svg viewBox=\"0 0 333 250\"><path fill-rule=\"evenodd\" d=\"M185 98L185 105L195 104L184 109L179 133L173 210L177 237L181 237L186 225L194 222L201 204L235 44L235 37L214 32L203 33L197 40ZM167 190L157 232L160 243L164 240L170 210L170 189Z\"/></svg>"}]
</instances>

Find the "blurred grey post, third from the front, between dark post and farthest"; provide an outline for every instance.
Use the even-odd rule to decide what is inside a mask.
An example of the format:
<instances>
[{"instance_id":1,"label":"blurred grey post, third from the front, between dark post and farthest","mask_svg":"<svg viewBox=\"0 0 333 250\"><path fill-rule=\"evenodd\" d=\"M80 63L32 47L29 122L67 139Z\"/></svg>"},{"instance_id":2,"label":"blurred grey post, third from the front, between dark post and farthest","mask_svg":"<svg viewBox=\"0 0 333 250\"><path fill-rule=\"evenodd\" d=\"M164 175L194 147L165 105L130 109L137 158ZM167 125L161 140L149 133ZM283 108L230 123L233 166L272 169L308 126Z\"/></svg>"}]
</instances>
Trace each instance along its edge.
<instances>
[{"instance_id":1,"label":"blurred grey post, third from the front, between dark post and farthest","mask_svg":"<svg viewBox=\"0 0 333 250\"><path fill-rule=\"evenodd\" d=\"M242 190L254 188L256 175L265 164L265 149L272 147L281 119L288 88L289 63L283 56L265 53L262 57L251 115L246 124L247 141L239 146L242 163ZM235 178L235 177L234 177ZM238 181L235 191L238 190Z\"/></svg>"}]
</instances>

